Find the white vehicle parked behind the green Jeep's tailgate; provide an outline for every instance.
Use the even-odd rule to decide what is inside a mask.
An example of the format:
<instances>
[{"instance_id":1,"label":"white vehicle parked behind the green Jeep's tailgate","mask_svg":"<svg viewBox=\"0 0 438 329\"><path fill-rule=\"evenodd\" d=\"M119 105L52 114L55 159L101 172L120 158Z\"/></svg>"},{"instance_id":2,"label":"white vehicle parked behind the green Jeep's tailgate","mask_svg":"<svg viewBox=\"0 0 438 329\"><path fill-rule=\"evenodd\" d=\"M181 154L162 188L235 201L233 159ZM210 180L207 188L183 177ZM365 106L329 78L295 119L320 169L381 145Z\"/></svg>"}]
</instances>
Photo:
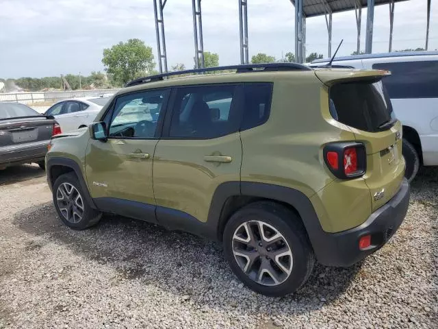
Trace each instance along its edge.
<instances>
[{"instance_id":1,"label":"white vehicle parked behind the green Jeep's tailgate","mask_svg":"<svg viewBox=\"0 0 438 329\"><path fill-rule=\"evenodd\" d=\"M328 62L314 60L310 66L324 66ZM438 51L339 57L333 60L333 65L391 71L382 81L403 125L406 177L413 180L420 164L438 165Z\"/></svg>"}]
</instances>

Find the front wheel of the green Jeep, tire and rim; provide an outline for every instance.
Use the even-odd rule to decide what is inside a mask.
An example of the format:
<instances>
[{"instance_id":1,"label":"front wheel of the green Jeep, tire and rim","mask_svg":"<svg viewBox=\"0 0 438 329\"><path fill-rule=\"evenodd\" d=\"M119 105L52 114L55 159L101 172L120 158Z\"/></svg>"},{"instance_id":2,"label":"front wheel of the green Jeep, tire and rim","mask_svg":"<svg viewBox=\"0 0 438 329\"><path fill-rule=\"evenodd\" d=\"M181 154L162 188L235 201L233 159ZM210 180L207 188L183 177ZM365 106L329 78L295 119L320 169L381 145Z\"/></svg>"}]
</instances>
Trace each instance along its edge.
<instances>
[{"instance_id":1,"label":"front wheel of the green Jeep, tire and rim","mask_svg":"<svg viewBox=\"0 0 438 329\"><path fill-rule=\"evenodd\" d=\"M53 203L61 221L75 230L95 225L102 216L88 204L74 173L64 173L55 180Z\"/></svg>"}]
</instances>

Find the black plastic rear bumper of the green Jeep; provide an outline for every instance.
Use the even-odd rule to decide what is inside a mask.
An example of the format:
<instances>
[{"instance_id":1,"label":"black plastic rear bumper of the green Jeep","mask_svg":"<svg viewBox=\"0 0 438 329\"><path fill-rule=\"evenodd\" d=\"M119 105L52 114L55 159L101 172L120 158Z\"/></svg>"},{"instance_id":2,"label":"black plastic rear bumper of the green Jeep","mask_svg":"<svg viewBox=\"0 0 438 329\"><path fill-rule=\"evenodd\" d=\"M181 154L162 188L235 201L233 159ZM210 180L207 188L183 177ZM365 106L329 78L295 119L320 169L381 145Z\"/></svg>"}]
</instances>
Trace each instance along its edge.
<instances>
[{"instance_id":1,"label":"black plastic rear bumper of the green Jeep","mask_svg":"<svg viewBox=\"0 0 438 329\"><path fill-rule=\"evenodd\" d=\"M398 193L368 219L350 230L320 234L318 246L314 246L318 261L322 265L348 267L383 247L398 230L409 206L410 188L406 179ZM359 249L359 239L371 235L369 249ZM312 241L313 242L313 241Z\"/></svg>"}]
</instances>

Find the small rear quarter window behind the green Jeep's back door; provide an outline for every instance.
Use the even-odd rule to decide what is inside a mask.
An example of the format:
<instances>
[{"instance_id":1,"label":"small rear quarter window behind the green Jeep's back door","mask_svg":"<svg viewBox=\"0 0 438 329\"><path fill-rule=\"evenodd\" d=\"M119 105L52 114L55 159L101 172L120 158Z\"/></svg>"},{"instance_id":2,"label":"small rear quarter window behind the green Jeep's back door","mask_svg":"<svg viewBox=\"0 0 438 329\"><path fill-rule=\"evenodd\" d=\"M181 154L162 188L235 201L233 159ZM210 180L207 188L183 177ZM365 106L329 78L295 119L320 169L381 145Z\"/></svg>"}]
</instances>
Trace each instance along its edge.
<instances>
[{"instance_id":1,"label":"small rear quarter window behind the green Jeep's back door","mask_svg":"<svg viewBox=\"0 0 438 329\"><path fill-rule=\"evenodd\" d=\"M241 130L262 125L268 120L271 106L272 84L245 84L244 117Z\"/></svg>"}]
</instances>

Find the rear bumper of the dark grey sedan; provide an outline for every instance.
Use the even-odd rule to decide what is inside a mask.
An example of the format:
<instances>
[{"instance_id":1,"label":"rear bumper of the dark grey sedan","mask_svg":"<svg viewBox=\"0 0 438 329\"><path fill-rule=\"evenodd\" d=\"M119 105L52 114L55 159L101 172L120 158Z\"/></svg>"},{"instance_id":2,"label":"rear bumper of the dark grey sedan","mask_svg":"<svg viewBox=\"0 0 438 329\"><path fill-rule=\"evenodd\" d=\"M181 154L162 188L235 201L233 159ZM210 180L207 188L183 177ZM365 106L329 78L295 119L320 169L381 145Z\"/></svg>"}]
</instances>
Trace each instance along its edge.
<instances>
[{"instance_id":1,"label":"rear bumper of the dark grey sedan","mask_svg":"<svg viewBox=\"0 0 438 329\"><path fill-rule=\"evenodd\" d=\"M0 147L0 167L10 164L44 160L49 141Z\"/></svg>"}]
</instances>

